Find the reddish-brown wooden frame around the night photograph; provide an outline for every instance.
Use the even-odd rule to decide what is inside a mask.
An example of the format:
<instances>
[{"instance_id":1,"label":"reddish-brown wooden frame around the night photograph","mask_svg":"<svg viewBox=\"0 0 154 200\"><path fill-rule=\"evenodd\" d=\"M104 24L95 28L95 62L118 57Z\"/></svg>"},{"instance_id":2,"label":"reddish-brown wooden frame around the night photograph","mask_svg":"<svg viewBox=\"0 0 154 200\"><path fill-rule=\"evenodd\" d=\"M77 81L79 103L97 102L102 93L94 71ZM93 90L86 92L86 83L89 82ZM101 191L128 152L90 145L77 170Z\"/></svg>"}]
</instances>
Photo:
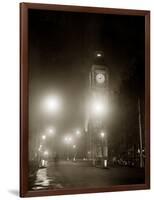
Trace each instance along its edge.
<instances>
[{"instance_id":1,"label":"reddish-brown wooden frame around the night photograph","mask_svg":"<svg viewBox=\"0 0 154 200\"><path fill-rule=\"evenodd\" d=\"M145 21L145 182L142 184L123 184L102 187L77 187L61 189L29 190L29 10L41 10L46 12L88 13L89 15L113 15L143 17ZM136 24L137 26L137 24ZM81 36L82 37L82 36ZM133 36L132 36L133 37ZM53 39L53 38L52 38ZM36 3L20 4L20 196L46 196L81 193L113 192L125 190L143 190L150 188L150 11L96 8L66 5L50 5Z\"/></svg>"}]
</instances>

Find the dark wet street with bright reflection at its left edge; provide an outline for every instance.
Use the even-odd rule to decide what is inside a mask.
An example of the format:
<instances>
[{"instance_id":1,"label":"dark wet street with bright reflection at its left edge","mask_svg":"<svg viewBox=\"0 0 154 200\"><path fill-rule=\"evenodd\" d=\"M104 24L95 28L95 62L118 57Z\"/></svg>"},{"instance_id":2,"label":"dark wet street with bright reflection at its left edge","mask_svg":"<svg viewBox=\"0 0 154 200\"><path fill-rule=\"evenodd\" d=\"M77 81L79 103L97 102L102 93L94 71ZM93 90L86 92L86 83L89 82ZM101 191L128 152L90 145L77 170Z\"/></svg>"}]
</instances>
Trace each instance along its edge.
<instances>
[{"instance_id":1,"label":"dark wet street with bright reflection at its left edge","mask_svg":"<svg viewBox=\"0 0 154 200\"><path fill-rule=\"evenodd\" d=\"M86 161L49 162L39 168L30 179L29 189L94 188L122 184L144 183L144 170L118 167L101 169L90 166Z\"/></svg>"}]
</instances>

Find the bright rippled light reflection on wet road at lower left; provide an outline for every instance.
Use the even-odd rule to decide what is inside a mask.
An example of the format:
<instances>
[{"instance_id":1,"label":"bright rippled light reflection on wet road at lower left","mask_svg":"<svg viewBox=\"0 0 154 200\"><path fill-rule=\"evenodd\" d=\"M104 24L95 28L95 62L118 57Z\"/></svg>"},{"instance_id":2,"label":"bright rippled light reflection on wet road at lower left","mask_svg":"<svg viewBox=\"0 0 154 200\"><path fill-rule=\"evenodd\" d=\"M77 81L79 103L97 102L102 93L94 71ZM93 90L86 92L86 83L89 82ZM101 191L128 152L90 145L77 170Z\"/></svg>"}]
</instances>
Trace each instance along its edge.
<instances>
[{"instance_id":1,"label":"bright rippled light reflection on wet road at lower left","mask_svg":"<svg viewBox=\"0 0 154 200\"><path fill-rule=\"evenodd\" d=\"M56 188L63 188L63 186L61 184L56 183L54 177L48 177L47 168L38 169L32 190L49 189L49 188L56 189Z\"/></svg>"}]
</instances>

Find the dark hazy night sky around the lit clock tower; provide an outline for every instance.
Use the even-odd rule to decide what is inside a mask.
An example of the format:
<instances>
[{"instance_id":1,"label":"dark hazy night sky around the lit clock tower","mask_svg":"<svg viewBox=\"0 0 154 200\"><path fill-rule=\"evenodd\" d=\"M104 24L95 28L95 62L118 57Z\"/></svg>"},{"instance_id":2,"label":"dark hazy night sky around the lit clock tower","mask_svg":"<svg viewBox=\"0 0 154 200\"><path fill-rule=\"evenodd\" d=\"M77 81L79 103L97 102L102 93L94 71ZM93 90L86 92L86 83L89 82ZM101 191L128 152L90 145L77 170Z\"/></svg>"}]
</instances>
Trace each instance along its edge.
<instances>
[{"instance_id":1,"label":"dark hazy night sky around the lit clock tower","mask_svg":"<svg viewBox=\"0 0 154 200\"><path fill-rule=\"evenodd\" d=\"M39 136L49 124L58 127L59 136L84 128L88 78L97 50L104 52L110 73L115 111L110 123L111 141L119 132L130 132L130 127L135 133L137 114L130 113L138 96L144 107L144 29L141 16L30 10L30 138ZM41 110L42 98L49 94L62 99L63 109L56 117ZM118 144L120 139L116 140Z\"/></svg>"}]
</instances>

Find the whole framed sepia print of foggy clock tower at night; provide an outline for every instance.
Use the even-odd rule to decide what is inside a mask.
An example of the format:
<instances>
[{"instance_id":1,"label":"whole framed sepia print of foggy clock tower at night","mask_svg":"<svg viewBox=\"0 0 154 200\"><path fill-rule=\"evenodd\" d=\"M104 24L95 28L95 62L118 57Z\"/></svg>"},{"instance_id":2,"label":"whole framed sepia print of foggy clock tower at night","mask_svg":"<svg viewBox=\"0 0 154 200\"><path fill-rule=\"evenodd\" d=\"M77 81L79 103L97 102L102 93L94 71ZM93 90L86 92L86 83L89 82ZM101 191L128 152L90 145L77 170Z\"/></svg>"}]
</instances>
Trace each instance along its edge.
<instances>
[{"instance_id":1,"label":"whole framed sepia print of foggy clock tower at night","mask_svg":"<svg viewBox=\"0 0 154 200\"><path fill-rule=\"evenodd\" d=\"M20 4L20 196L150 188L150 11Z\"/></svg>"}]
</instances>

